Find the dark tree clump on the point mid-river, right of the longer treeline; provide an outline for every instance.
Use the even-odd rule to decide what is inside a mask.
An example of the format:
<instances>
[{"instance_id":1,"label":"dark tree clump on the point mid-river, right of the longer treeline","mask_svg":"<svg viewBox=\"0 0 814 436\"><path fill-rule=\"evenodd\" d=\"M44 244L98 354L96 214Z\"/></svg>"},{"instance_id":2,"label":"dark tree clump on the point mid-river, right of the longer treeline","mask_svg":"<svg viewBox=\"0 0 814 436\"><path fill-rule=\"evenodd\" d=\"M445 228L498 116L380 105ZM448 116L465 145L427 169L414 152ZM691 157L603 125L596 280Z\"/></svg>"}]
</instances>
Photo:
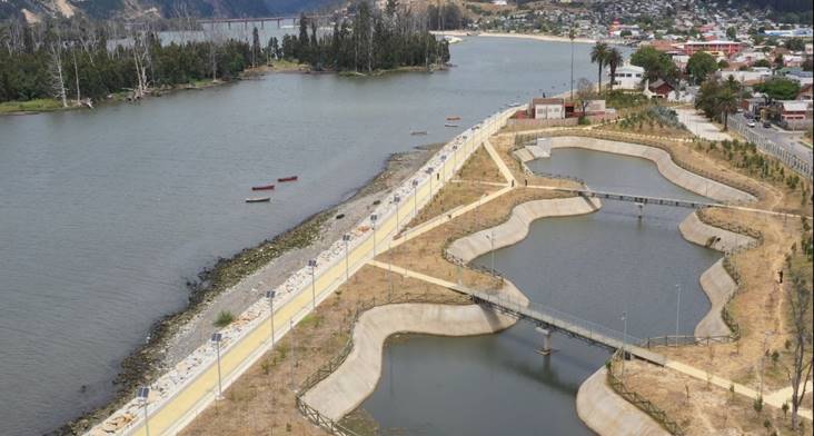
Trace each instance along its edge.
<instances>
[{"instance_id":1,"label":"dark tree clump on the point mid-river, right of the longer treeline","mask_svg":"<svg viewBox=\"0 0 814 436\"><path fill-rule=\"evenodd\" d=\"M329 33L320 34L315 20L301 16L299 34L285 36L281 56L310 65L315 70L375 71L399 67L430 68L449 61L449 44L427 28L427 18L398 8L394 0L384 11L367 2L357 4L351 19L337 19ZM271 40L267 52L276 52Z\"/></svg>"}]
</instances>

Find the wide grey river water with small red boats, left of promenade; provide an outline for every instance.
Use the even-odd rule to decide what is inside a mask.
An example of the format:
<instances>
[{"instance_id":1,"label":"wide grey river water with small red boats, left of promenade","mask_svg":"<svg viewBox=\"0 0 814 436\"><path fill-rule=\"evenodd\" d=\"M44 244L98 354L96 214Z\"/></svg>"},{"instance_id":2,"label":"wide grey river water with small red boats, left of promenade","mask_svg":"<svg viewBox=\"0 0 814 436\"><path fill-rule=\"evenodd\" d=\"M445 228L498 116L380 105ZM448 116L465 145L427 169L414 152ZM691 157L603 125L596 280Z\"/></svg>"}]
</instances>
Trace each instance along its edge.
<instances>
[{"instance_id":1,"label":"wide grey river water with small red boats, left of promenade","mask_svg":"<svg viewBox=\"0 0 814 436\"><path fill-rule=\"evenodd\" d=\"M575 78L593 77L588 51L575 46ZM474 38L451 52L457 67L431 75L272 75L1 117L0 434L41 434L108 400L121 359L217 257L337 204L391 152L567 88L567 43ZM444 128L449 115L459 129ZM244 204L288 175L300 181L271 204Z\"/></svg>"}]
</instances>

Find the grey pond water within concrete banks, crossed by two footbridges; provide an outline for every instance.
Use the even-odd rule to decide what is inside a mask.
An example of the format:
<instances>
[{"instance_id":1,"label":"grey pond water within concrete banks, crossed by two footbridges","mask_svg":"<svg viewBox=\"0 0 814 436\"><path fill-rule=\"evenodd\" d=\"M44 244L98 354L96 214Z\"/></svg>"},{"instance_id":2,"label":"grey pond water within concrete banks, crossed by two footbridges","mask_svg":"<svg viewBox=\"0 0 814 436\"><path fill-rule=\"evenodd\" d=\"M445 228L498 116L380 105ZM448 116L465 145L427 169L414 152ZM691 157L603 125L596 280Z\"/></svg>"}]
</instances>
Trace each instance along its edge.
<instances>
[{"instance_id":1,"label":"grey pond water within concrete banks, crossed by two footbridges","mask_svg":"<svg viewBox=\"0 0 814 436\"><path fill-rule=\"evenodd\" d=\"M556 149L535 171L576 176L600 190L698 199L647 160ZM495 267L536 303L646 338L692 334L709 308L698 278L718 255L685 241L687 209L605 201L586 216L537 220L526 239L495 252ZM492 256L474 261L492 267ZM678 287L676 287L678 286ZM383 428L406 435L593 434L576 414L576 392L609 357L554 334L556 351L518 323L498 335L409 336L385 349L383 378L363 404Z\"/></svg>"}]
</instances>

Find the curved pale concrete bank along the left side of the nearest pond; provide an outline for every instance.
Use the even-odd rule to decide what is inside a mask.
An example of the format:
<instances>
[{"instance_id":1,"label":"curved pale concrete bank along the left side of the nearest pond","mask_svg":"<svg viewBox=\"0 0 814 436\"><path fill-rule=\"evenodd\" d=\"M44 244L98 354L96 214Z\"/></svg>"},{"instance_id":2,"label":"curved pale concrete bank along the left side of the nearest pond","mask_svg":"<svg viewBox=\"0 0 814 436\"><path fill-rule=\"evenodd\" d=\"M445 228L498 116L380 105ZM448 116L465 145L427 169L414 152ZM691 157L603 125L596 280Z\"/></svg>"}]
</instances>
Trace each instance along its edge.
<instances>
[{"instance_id":1,"label":"curved pale concrete bank along the left side of the nearest pond","mask_svg":"<svg viewBox=\"0 0 814 436\"><path fill-rule=\"evenodd\" d=\"M528 301L505 281L503 294ZM471 336L500 331L517 320L477 305L399 304L375 307L354 326L354 349L345 363L309 390L304 399L326 417L339 420L376 389L381 375L385 341L391 335L415 333Z\"/></svg>"}]
</instances>

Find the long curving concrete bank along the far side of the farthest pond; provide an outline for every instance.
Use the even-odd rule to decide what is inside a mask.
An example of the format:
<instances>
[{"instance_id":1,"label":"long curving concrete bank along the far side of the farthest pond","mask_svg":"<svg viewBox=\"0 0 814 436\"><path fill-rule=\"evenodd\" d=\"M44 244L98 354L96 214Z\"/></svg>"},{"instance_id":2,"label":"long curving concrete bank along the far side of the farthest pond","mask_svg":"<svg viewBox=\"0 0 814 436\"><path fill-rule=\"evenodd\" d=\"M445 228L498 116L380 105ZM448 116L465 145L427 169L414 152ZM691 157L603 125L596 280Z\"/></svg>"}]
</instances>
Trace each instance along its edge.
<instances>
[{"instance_id":1,"label":"long curving concrete bank along the far side of the farthest pond","mask_svg":"<svg viewBox=\"0 0 814 436\"><path fill-rule=\"evenodd\" d=\"M756 200L751 194L685 170L673 161L669 153L658 148L584 137L552 138L552 149L555 148L582 148L647 159L656 164L664 178L692 192L724 202Z\"/></svg>"}]
</instances>

